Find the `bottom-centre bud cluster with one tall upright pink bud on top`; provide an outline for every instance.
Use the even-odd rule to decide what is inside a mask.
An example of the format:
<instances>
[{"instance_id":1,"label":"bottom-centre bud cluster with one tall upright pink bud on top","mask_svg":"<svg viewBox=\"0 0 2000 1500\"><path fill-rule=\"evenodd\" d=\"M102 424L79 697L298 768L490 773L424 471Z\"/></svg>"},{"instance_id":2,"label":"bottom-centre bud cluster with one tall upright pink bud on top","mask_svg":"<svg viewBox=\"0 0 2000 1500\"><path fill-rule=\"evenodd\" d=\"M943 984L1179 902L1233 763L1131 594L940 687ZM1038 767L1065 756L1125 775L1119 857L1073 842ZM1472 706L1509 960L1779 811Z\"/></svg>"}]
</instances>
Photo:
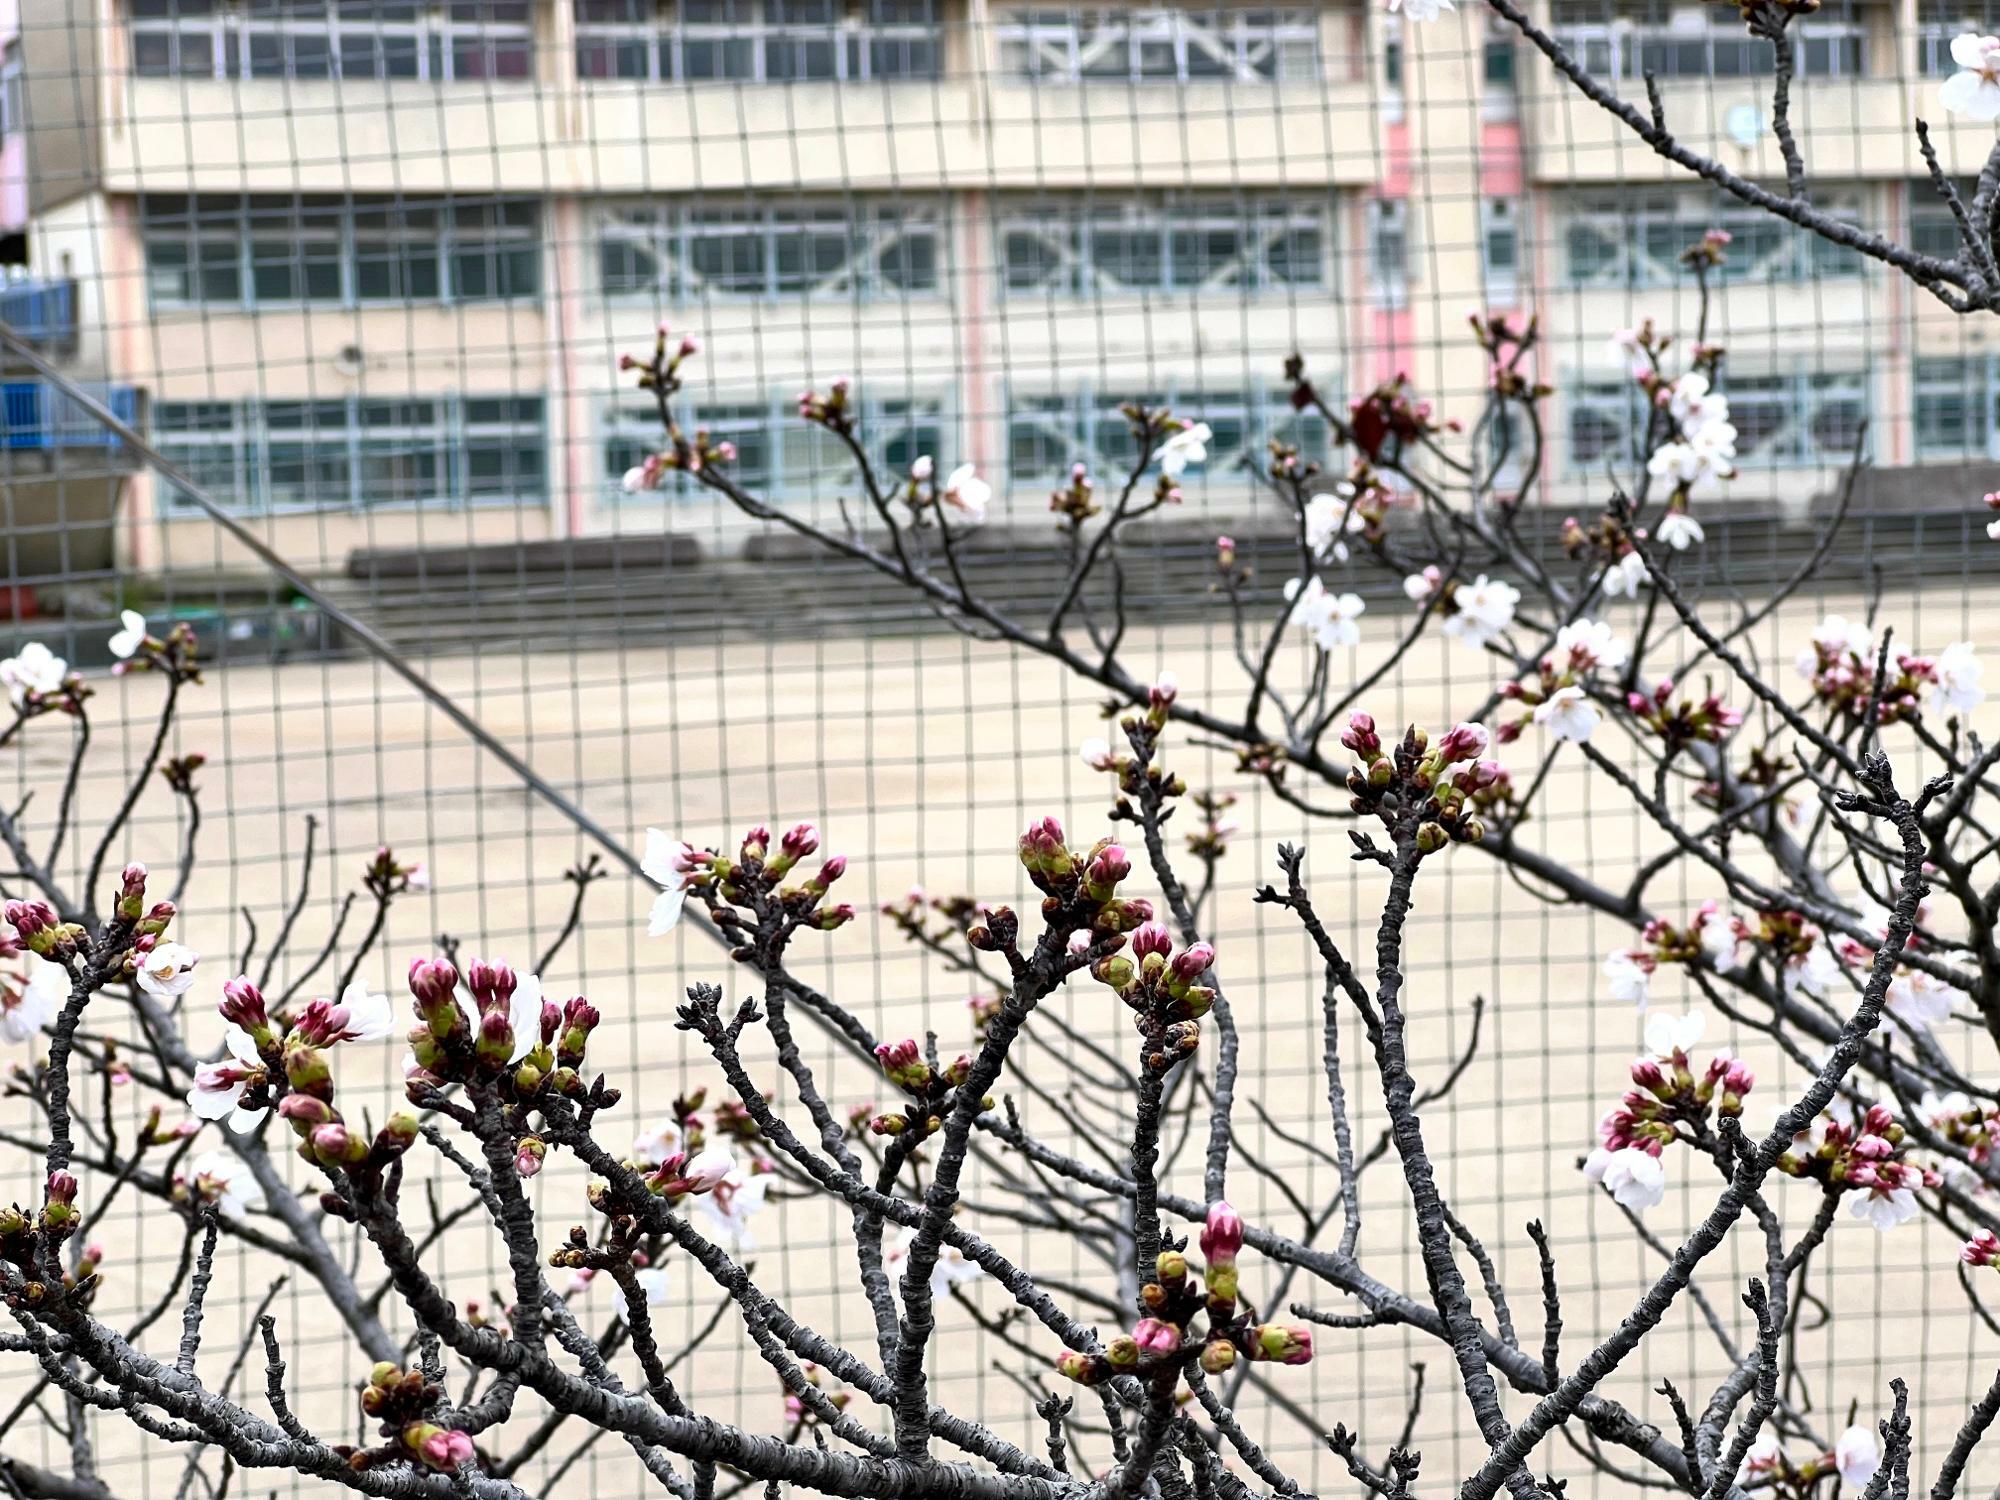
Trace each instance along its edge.
<instances>
[{"instance_id":1,"label":"bottom-centre bud cluster with one tall upright pink bud on top","mask_svg":"<svg viewBox=\"0 0 2000 1500\"><path fill-rule=\"evenodd\" d=\"M1146 1316L1130 1334L1112 1338L1102 1354L1064 1350L1056 1370L1082 1386L1132 1374L1172 1382L1190 1364L1222 1374L1238 1358L1272 1364L1312 1360L1312 1330L1292 1324L1252 1322L1238 1302L1236 1256L1244 1222L1224 1202L1210 1204L1202 1226L1202 1278L1194 1280L1180 1250L1162 1250L1154 1280L1140 1288ZM1200 1320L1200 1330L1196 1328Z\"/></svg>"}]
</instances>

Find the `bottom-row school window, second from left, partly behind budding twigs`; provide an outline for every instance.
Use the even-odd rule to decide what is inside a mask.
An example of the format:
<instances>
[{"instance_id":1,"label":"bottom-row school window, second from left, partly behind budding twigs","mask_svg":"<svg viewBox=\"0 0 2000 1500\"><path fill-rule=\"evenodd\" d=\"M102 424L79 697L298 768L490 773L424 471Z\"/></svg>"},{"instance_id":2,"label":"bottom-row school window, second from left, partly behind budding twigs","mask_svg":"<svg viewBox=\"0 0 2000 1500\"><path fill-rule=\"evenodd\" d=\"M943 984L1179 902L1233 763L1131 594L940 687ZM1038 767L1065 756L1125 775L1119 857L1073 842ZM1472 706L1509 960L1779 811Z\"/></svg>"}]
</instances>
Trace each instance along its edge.
<instances>
[{"instance_id":1,"label":"bottom-row school window, second from left, partly behind budding twigs","mask_svg":"<svg viewBox=\"0 0 2000 1500\"><path fill-rule=\"evenodd\" d=\"M686 432L706 428L714 442L734 442L736 462L730 474L748 490L774 502L804 500L818 494L852 490L856 482L854 456L834 434L798 416L798 396L764 400L694 402L676 412ZM882 398L860 394L860 430L868 444L868 462L878 474L904 472L918 454L944 450L944 418L936 398ZM606 496L624 504L654 502L656 492L628 496L620 480L648 454L658 452L664 438L658 410L652 402L626 402L604 412L604 486ZM690 496L698 484L674 476L672 494Z\"/></svg>"}]
</instances>

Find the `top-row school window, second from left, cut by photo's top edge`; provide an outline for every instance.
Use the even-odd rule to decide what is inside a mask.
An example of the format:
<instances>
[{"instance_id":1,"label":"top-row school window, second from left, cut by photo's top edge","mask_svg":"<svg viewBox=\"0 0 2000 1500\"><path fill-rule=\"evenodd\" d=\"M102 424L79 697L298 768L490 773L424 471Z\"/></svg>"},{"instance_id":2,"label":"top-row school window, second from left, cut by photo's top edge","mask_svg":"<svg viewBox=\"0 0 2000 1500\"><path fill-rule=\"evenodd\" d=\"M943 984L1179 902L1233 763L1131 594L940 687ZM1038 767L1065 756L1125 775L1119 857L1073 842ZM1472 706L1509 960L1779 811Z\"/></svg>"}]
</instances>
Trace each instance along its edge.
<instances>
[{"instance_id":1,"label":"top-row school window, second from left, cut by photo's top edge","mask_svg":"<svg viewBox=\"0 0 2000 1500\"><path fill-rule=\"evenodd\" d=\"M938 78L938 0L574 0L584 78Z\"/></svg>"}]
</instances>

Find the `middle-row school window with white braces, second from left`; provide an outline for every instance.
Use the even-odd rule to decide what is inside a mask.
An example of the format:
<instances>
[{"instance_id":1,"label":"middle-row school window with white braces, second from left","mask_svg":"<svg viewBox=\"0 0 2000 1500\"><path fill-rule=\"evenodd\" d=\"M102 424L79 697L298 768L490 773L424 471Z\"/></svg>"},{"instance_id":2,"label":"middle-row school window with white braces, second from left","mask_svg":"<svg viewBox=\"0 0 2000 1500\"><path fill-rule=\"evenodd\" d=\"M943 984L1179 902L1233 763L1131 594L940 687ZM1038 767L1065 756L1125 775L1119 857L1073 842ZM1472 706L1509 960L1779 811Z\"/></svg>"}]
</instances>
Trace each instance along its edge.
<instances>
[{"instance_id":1,"label":"middle-row school window with white braces, second from left","mask_svg":"<svg viewBox=\"0 0 2000 1500\"><path fill-rule=\"evenodd\" d=\"M906 204L704 204L608 210L606 296L856 296L938 290L938 218Z\"/></svg>"}]
</instances>

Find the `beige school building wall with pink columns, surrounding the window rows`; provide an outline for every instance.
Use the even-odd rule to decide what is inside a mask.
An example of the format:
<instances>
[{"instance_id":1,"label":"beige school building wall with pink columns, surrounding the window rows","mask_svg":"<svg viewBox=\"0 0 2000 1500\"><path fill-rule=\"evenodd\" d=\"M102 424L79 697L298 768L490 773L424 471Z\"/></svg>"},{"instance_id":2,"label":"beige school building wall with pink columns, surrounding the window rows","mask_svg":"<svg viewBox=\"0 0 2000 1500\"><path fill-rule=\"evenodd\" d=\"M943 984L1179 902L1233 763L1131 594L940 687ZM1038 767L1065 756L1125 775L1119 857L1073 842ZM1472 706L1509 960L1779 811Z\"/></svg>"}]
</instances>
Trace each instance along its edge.
<instances>
[{"instance_id":1,"label":"beige school building wall with pink columns, surrounding the window rows","mask_svg":"<svg viewBox=\"0 0 2000 1500\"><path fill-rule=\"evenodd\" d=\"M56 176L88 162L94 192L44 208L36 246L72 264L96 298L80 372L134 384L148 402L544 398L544 500L470 506L450 522L394 508L260 522L322 568L356 546L680 524L668 504L618 498L604 452L616 354L644 346L660 312L708 346L694 370L696 402L776 402L848 372L892 400L936 400L946 440L988 472L1006 470L1006 408L1024 396L1180 386L1262 400L1282 394L1284 354L1302 348L1322 388L1360 392L1406 370L1446 416L1470 424L1484 380L1466 338L1470 312L1534 312L1546 334L1544 374L1564 390L1622 380L1608 330L1648 312L1662 326L1692 324L1686 286L1580 288L1564 266L1570 214L1590 194L1670 188L1686 174L1580 100L1530 48L1516 48L1512 90L1488 82L1486 20L1470 8L1402 26L1358 0L1322 6L1324 78L1310 82L1024 82L1000 62L992 26L1006 12L976 6L946 12L944 76L932 82L668 86L578 78L572 14L560 2L536 8L534 78L456 84L140 78L116 0L78 4L96 4L94 24L78 34L94 48L102 86L78 96L92 118L74 140L52 138L46 156L38 142L36 168ZM1896 234L1908 234L1908 184L1922 172L1904 122L1928 110L1936 82L1916 76L1910 4L1860 8L1868 74L1808 78L1798 108L1814 182ZM1684 20L1676 12L1676 26ZM1768 100L1750 82L1668 80L1662 92L1690 148L1782 176ZM1952 170L1972 170L1990 130L1940 116L1938 144ZM1036 212L1048 194L1108 204L1222 190L1322 208L1324 286L1022 296L1000 284L998 226ZM138 204L148 194L532 196L542 204L542 292L512 302L176 310L146 286ZM662 308L602 286L598 230L618 204L792 204L814 194L940 212L936 290ZM1512 214L1524 246L1504 286L1490 264L1496 212ZM1380 220L1398 214L1406 254L1392 276L1378 238ZM1918 360L1988 352L1986 330L1878 268L1732 284L1710 320L1746 376L1808 362L1852 372L1866 386L1876 458L1892 464L1920 456L1910 426ZM1602 466L1572 460L1566 400L1556 398L1548 422L1544 494L1574 506L1600 488ZM1730 494L1802 512L1828 470L1746 466ZM1020 486L1024 514L1038 512L1042 488ZM216 554L212 526L160 504L154 490L144 478L130 484L130 560ZM1248 496L1248 484L1210 484L1206 502L1228 514ZM718 544L736 534L714 516L702 524Z\"/></svg>"}]
</instances>

